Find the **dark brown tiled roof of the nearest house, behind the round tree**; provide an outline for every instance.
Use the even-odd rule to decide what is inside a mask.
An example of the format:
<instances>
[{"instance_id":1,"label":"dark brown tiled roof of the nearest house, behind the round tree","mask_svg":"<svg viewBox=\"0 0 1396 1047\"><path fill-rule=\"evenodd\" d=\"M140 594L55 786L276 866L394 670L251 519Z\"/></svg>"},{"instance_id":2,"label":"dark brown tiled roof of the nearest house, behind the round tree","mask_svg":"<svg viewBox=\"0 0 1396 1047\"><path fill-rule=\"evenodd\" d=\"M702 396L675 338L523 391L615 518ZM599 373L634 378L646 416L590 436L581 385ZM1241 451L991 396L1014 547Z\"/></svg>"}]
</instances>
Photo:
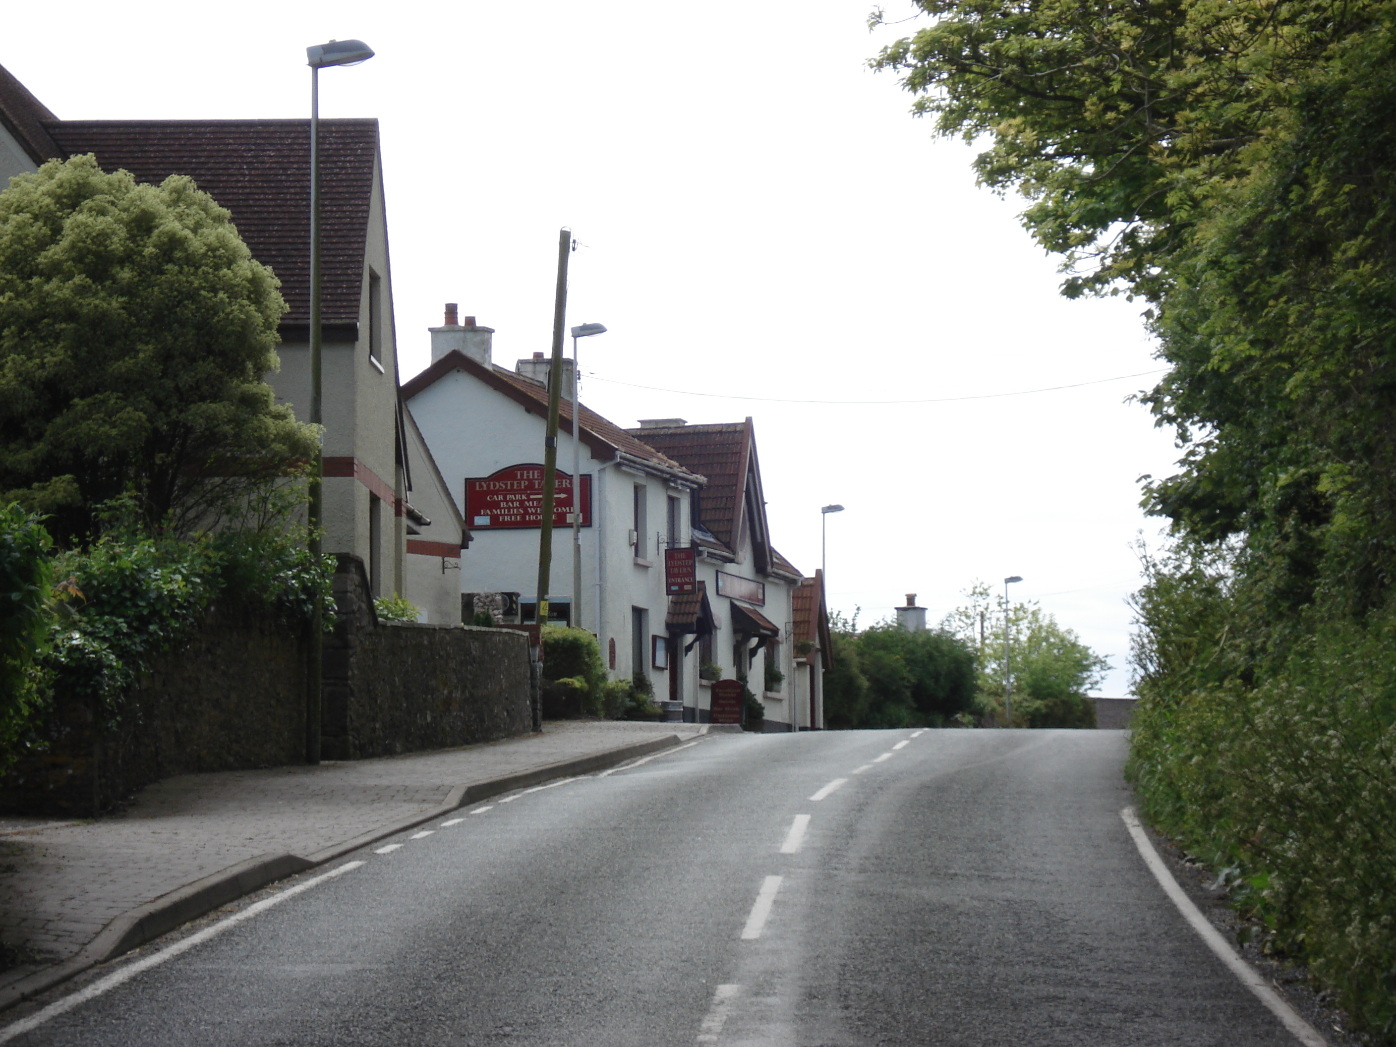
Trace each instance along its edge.
<instances>
[{"instance_id":1,"label":"dark brown tiled roof of the nearest house, behind the round tree","mask_svg":"<svg viewBox=\"0 0 1396 1047\"><path fill-rule=\"evenodd\" d=\"M290 307L282 324L310 322L309 120L63 120L43 130L63 155L96 154L103 170L137 181L194 179L281 278ZM359 320L377 154L377 120L320 121L325 324Z\"/></svg>"}]
</instances>

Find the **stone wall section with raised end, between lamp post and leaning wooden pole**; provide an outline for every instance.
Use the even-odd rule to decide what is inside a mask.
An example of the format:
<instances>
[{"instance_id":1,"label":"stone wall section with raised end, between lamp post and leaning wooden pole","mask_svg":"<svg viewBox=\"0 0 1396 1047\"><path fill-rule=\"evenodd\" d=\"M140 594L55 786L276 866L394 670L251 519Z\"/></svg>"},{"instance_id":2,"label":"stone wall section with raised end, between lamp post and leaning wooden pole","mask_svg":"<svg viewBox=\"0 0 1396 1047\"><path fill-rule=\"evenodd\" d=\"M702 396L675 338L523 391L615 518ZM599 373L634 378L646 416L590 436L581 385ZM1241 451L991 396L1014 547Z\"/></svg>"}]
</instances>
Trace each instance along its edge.
<instances>
[{"instance_id":1,"label":"stone wall section with raised end, between lamp post and leaning wooden pole","mask_svg":"<svg viewBox=\"0 0 1396 1047\"><path fill-rule=\"evenodd\" d=\"M325 642L321 754L362 759L469 745L532 729L528 637L380 623L363 561L339 557Z\"/></svg>"}]
</instances>

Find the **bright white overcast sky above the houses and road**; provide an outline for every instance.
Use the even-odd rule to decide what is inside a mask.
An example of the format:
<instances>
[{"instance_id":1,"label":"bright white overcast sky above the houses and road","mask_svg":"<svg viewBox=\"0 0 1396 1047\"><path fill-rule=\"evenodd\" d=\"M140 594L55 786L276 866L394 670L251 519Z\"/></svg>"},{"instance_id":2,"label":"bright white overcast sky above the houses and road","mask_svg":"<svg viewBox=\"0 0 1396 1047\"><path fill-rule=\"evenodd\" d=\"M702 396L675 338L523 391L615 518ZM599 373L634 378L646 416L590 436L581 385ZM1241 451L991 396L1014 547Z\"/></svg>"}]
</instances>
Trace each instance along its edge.
<instances>
[{"instance_id":1,"label":"bright white overcast sky above the houses and road","mask_svg":"<svg viewBox=\"0 0 1396 1047\"><path fill-rule=\"evenodd\" d=\"M1141 307L1061 299L1022 201L976 188L973 151L866 68L916 28L870 35L870 7L70 0L60 22L7 10L0 63L63 119L302 117L304 47L367 40L371 61L321 74L321 114L381 121L403 380L444 302L497 329L497 363L546 352L571 226L568 324L610 328L582 342L592 408L624 426L751 415L786 557L812 574L819 507L846 507L832 609L867 624L916 592L935 621L974 579L1018 574L1013 597L1107 655L1100 694L1125 694L1129 543L1159 533L1135 480L1177 458L1124 402L1152 377L847 402L1160 366Z\"/></svg>"}]
</instances>

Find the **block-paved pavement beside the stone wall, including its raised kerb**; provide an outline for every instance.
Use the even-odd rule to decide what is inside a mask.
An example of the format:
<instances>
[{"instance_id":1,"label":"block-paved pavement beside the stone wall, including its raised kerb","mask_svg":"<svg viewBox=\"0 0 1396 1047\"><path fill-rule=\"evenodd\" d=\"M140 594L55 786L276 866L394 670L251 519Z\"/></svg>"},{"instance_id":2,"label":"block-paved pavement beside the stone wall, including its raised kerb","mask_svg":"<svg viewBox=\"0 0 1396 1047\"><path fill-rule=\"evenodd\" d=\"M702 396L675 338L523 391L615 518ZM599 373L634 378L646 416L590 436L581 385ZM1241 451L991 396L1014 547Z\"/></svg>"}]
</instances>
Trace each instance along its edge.
<instances>
[{"instance_id":1,"label":"block-paved pavement beside the stone wall, including its raised kerb","mask_svg":"<svg viewBox=\"0 0 1396 1047\"><path fill-rule=\"evenodd\" d=\"M99 821L0 818L0 1009L274 879L487 796L705 733L691 723L544 723L436 752L169 778Z\"/></svg>"}]
</instances>

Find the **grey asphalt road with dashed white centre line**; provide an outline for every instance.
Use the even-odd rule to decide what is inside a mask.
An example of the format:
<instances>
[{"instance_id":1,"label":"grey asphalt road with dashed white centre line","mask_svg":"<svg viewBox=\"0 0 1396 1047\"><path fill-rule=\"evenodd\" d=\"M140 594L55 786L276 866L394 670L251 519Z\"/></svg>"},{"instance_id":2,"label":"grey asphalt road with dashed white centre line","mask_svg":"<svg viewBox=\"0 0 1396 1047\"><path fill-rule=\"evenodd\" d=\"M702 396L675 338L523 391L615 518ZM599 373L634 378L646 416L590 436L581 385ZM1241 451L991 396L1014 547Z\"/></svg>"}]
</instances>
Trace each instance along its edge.
<instances>
[{"instance_id":1,"label":"grey asphalt road with dashed white centre line","mask_svg":"<svg viewBox=\"0 0 1396 1047\"><path fill-rule=\"evenodd\" d=\"M1124 757L709 736L290 881L8 1043L1293 1043L1145 868Z\"/></svg>"}]
</instances>

